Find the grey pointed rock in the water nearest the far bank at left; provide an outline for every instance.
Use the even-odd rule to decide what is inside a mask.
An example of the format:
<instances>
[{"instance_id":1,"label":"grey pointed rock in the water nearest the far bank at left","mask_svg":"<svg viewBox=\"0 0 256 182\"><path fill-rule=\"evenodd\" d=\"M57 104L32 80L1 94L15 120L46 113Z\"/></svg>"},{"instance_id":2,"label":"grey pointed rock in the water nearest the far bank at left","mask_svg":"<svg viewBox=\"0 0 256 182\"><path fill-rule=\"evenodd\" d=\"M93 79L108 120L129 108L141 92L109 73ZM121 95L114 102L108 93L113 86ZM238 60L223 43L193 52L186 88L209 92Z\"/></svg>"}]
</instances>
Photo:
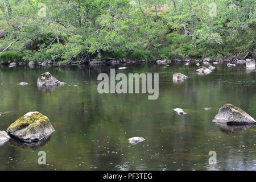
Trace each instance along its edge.
<instances>
[{"instance_id":1,"label":"grey pointed rock in the water nearest the far bank at left","mask_svg":"<svg viewBox=\"0 0 256 182\"><path fill-rule=\"evenodd\" d=\"M64 82L60 82L51 73L43 73L38 78L38 86L62 86Z\"/></svg>"}]
</instances>

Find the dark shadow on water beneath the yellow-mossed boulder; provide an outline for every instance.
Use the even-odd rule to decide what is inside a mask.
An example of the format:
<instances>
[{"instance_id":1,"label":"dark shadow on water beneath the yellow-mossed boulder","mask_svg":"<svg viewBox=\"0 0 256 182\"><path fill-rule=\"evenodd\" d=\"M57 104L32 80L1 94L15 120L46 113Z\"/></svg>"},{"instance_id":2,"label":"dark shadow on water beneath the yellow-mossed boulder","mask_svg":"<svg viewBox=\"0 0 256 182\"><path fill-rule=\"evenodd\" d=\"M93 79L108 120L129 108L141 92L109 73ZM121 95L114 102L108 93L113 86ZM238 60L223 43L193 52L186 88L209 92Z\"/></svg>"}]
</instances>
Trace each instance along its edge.
<instances>
[{"instance_id":1,"label":"dark shadow on water beneath the yellow-mossed boulder","mask_svg":"<svg viewBox=\"0 0 256 182\"><path fill-rule=\"evenodd\" d=\"M44 145L46 145L46 143L49 142L49 140L51 140L52 134L44 137L41 140L37 140L34 142L24 142L20 139L17 138L11 138L9 140L9 144L12 147L20 147L20 148L31 148L32 150L36 150L40 147L43 147Z\"/></svg>"}]
</instances>

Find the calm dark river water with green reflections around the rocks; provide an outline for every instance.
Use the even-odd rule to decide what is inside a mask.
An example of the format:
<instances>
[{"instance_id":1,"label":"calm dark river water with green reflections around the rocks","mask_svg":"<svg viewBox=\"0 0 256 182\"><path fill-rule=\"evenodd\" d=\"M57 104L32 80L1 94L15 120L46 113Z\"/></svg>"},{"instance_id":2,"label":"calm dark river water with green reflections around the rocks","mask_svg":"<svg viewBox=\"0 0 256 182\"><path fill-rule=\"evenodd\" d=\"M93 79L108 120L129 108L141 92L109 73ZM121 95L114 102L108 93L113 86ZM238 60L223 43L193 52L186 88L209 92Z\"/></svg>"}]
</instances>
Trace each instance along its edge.
<instances>
[{"instance_id":1,"label":"calm dark river water with green reflections around the rocks","mask_svg":"<svg viewBox=\"0 0 256 182\"><path fill-rule=\"evenodd\" d=\"M37 110L47 115L55 133L48 142L32 147L17 147L20 144L13 140L5 143L0 147L0 170L256 169L255 127L243 130L212 122L226 103L256 118L255 71L246 74L245 65L230 69L218 64L209 75L197 76L194 64L122 66L128 68L115 72L159 73L158 100L148 100L147 94L98 94L98 74L109 74L118 65L1 67L0 130ZM42 92L36 81L43 72L51 72L67 85ZM174 73L188 79L175 84ZM22 81L29 85L17 85ZM177 107L187 115L175 114ZM146 140L134 146L128 140L133 137ZM39 151L46 151L48 165L38 164ZM209 151L217 152L214 166L208 164Z\"/></svg>"}]
</instances>

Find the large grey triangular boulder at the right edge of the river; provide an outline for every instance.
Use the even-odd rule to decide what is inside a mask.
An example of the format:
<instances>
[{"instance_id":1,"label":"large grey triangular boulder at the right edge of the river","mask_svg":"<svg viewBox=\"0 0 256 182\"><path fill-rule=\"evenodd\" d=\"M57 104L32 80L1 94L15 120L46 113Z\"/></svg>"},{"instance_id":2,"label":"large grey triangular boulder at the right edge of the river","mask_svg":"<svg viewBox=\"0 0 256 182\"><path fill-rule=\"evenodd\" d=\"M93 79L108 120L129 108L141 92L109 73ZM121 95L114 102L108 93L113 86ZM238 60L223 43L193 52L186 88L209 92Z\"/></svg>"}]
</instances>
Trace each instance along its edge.
<instances>
[{"instance_id":1,"label":"large grey triangular boulder at the right edge of the river","mask_svg":"<svg viewBox=\"0 0 256 182\"><path fill-rule=\"evenodd\" d=\"M214 117L213 122L226 123L227 125L256 124L255 119L232 104L222 106L220 110L218 110L218 114Z\"/></svg>"}]
</instances>

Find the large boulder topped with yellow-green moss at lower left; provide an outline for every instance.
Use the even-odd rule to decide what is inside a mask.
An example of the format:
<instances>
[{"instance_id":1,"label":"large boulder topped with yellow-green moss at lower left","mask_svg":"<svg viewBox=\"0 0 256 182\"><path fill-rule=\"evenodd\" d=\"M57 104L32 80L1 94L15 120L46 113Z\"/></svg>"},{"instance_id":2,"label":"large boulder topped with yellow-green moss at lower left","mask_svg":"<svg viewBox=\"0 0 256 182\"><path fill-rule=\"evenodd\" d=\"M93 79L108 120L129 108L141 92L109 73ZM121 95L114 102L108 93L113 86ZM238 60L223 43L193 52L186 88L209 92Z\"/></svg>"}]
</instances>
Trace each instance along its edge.
<instances>
[{"instance_id":1,"label":"large boulder topped with yellow-green moss at lower left","mask_svg":"<svg viewBox=\"0 0 256 182\"><path fill-rule=\"evenodd\" d=\"M43 139L53 133L53 131L54 129L49 119L37 111L23 115L23 117L17 119L7 129L8 134L24 142Z\"/></svg>"}]
</instances>

